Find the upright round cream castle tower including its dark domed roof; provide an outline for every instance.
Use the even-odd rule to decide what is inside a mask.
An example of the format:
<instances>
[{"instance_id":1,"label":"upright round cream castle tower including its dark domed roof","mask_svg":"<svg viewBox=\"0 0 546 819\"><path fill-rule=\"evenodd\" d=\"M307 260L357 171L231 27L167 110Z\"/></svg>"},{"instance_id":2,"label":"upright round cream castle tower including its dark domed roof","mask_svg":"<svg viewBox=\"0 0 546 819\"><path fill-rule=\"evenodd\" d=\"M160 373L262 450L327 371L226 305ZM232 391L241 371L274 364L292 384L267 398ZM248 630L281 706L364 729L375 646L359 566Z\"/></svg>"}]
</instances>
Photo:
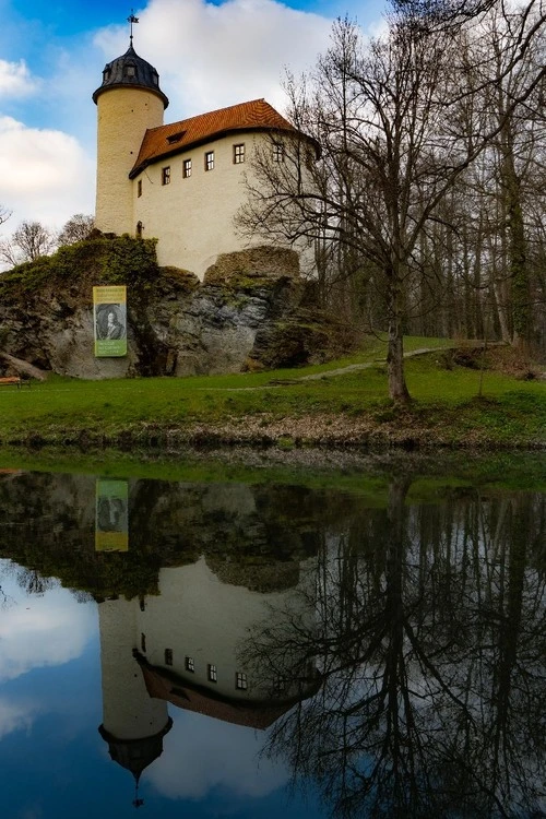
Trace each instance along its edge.
<instances>
[{"instance_id":1,"label":"upright round cream castle tower including its dark domed roof","mask_svg":"<svg viewBox=\"0 0 546 819\"><path fill-rule=\"evenodd\" d=\"M126 54L105 66L93 102L97 106L95 225L103 233L134 234L129 171L146 129L163 126L168 99L155 68L134 51L132 37Z\"/></svg>"}]
</instances>

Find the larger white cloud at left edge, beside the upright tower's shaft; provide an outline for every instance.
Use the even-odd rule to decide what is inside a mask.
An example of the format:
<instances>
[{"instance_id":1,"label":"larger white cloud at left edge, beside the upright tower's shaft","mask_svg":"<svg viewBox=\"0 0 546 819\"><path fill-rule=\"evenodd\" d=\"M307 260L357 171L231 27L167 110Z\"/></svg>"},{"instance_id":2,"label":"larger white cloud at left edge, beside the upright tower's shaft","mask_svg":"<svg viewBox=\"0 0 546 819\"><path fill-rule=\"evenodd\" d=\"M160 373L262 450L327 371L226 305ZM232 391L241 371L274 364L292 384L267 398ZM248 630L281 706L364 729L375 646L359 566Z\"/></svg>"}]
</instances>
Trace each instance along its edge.
<instances>
[{"instance_id":1,"label":"larger white cloud at left edge, beside the upright tower's shaft","mask_svg":"<svg viewBox=\"0 0 546 819\"><path fill-rule=\"evenodd\" d=\"M61 226L93 211L94 189L93 163L73 136L0 116L0 203L13 212L4 230L22 219Z\"/></svg>"}]
</instances>

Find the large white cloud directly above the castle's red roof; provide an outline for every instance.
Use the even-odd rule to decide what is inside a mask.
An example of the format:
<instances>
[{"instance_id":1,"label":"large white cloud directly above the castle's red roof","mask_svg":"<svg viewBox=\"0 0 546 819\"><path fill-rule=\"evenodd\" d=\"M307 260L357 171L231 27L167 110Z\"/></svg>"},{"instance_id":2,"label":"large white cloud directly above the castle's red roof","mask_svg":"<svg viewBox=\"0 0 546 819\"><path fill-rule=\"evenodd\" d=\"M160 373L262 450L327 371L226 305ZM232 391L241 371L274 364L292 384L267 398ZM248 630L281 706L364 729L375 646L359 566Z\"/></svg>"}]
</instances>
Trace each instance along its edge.
<instances>
[{"instance_id":1,"label":"large white cloud directly above the castle's red roof","mask_svg":"<svg viewBox=\"0 0 546 819\"><path fill-rule=\"evenodd\" d=\"M168 121L265 97L285 104L285 68L299 73L328 46L331 21L274 0L151 0L134 29L136 52L159 72ZM105 59L128 46L127 27L95 38Z\"/></svg>"}]
</instances>

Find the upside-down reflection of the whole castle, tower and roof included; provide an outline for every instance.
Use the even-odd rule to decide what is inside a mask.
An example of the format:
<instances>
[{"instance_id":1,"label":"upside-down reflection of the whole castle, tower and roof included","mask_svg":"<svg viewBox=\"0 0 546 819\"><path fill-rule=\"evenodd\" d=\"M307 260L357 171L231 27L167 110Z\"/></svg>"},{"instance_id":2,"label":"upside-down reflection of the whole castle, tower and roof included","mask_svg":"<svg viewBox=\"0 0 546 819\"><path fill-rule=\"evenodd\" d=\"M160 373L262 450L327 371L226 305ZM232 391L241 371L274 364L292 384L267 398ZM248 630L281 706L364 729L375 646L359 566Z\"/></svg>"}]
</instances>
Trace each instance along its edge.
<instances>
[{"instance_id":1,"label":"upside-down reflection of the whole castle, tower and roof included","mask_svg":"<svg viewBox=\"0 0 546 819\"><path fill-rule=\"evenodd\" d=\"M162 569L159 595L98 604L103 724L111 758L136 781L163 750L173 722L167 703L225 722L266 728L317 691L312 664L305 676L257 679L241 646L266 628L273 607L302 600L314 580L314 561L301 567L298 585L259 594L222 583L204 558ZM312 613L301 610L301 622ZM310 624L309 624L310 625Z\"/></svg>"}]
</instances>

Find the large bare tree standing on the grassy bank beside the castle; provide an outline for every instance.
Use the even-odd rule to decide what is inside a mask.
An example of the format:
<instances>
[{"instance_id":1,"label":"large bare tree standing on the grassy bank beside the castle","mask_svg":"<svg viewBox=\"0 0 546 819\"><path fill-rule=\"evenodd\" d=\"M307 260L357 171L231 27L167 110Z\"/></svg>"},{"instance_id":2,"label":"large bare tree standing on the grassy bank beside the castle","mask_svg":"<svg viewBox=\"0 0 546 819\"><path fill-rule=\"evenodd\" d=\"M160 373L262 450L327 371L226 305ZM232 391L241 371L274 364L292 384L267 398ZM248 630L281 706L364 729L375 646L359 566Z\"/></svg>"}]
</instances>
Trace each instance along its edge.
<instances>
[{"instance_id":1,"label":"large bare tree standing on the grassy bank beside the castle","mask_svg":"<svg viewBox=\"0 0 546 819\"><path fill-rule=\"evenodd\" d=\"M544 60L532 58L544 34L541 12L534 2L510 13L495 7L459 27L416 25L414 11L397 13L387 36L371 43L351 21L337 21L314 71L288 78L289 115L308 138L284 138L282 162L281 138L258 153L241 229L274 241L314 242L319 281L345 277L376 289L394 401L410 400L403 334L424 297L415 295L417 274L425 281L422 248L446 221L446 203L465 175L510 120L535 110L543 93ZM495 15L502 38L497 50L484 50L480 38ZM499 88L506 92L501 108ZM321 147L318 161L312 144ZM513 211L512 223L517 238ZM515 250L513 258L515 275Z\"/></svg>"}]
</instances>

